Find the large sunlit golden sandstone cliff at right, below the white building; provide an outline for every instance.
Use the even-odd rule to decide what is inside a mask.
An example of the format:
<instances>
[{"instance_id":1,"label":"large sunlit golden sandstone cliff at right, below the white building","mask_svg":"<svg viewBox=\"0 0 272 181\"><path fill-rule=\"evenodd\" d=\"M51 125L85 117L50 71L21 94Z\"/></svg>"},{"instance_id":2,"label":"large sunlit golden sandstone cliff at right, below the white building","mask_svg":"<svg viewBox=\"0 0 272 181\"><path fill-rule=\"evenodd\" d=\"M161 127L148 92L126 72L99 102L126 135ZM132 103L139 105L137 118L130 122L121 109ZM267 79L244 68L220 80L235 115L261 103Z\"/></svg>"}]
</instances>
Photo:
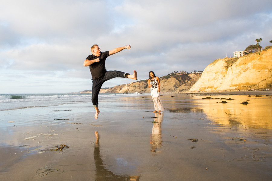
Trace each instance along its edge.
<instances>
[{"instance_id":1,"label":"large sunlit golden sandstone cliff at right, below the white building","mask_svg":"<svg viewBox=\"0 0 272 181\"><path fill-rule=\"evenodd\" d=\"M209 64L189 91L260 90L272 86L272 48Z\"/></svg>"}]
</instances>

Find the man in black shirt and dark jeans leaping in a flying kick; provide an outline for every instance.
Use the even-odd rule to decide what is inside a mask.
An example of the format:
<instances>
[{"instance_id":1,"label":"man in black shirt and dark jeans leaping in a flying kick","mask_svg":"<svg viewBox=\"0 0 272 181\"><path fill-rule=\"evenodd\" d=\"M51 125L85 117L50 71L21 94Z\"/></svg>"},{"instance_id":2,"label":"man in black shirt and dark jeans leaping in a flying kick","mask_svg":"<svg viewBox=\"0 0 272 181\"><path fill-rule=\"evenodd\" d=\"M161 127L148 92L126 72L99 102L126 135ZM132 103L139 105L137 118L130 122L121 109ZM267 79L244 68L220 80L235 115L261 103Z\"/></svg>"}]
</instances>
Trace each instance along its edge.
<instances>
[{"instance_id":1,"label":"man in black shirt and dark jeans leaping in a flying kick","mask_svg":"<svg viewBox=\"0 0 272 181\"><path fill-rule=\"evenodd\" d=\"M130 49L131 46L123 46L115 48L111 51L101 52L98 45L93 45L91 47L92 55L89 55L84 61L83 65L85 67L89 66L92 74L92 104L96 109L95 119L98 118L100 113L98 109L98 94L105 81L112 78L131 78L137 80L137 72L134 70L133 75L121 71L107 71L105 67L106 58L115 53L121 52L123 49Z\"/></svg>"}]
</instances>

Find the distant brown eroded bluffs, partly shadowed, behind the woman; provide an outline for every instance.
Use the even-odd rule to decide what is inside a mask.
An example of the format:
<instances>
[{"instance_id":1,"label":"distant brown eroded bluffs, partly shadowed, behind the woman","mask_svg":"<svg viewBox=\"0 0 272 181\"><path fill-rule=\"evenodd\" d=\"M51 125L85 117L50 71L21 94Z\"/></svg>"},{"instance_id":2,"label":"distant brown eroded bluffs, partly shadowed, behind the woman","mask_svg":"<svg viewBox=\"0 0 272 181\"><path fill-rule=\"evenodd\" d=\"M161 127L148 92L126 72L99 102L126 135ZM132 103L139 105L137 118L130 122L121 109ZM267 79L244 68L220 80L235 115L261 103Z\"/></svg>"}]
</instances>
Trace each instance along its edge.
<instances>
[{"instance_id":1,"label":"distant brown eroded bluffs, partly shadowed, behind the woman","mask_svg":"<svg viewBox=\"0 0 272 181\"><path fill-rule=\"evenodd\" d=\"M201 73L171 73L167 76L160 77L161 92L183 92L188 91L193 84L200 78ZM117 85L115 87L101 89L100 93L148 93L147 80L131 82L130 84ZM91 93L91 90L84 90L80 93Z\"/></svg>"}]
</instances>

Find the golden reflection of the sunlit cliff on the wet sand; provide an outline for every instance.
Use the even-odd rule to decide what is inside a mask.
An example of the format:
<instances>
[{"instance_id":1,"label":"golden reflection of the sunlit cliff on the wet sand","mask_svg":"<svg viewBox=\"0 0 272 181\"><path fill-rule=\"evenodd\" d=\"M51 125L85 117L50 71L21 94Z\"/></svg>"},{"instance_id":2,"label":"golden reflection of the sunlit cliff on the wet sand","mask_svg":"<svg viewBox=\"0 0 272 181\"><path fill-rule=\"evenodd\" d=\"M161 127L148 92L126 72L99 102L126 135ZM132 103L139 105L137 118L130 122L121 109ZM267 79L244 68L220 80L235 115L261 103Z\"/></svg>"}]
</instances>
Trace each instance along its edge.
<instances>
[{"instance_id":1,"label":"golden reflection of the sunlit cliff on the wet sand","mask_svg":"<svg viewBox=\"0 0 272 181\"><path fill-rule=\"evenodd\" d=\"M201 96L205 97L205 96ZM272 129L272 97L248 95L209 96L213 99L199 100L199 107L207 119L220 125L236 127L259 127ZM221 98L231 98L224 100ZM226 101L227 103L221 103ZM248 104L241 104L247 101Z\"/></svg>"}]
</instances>

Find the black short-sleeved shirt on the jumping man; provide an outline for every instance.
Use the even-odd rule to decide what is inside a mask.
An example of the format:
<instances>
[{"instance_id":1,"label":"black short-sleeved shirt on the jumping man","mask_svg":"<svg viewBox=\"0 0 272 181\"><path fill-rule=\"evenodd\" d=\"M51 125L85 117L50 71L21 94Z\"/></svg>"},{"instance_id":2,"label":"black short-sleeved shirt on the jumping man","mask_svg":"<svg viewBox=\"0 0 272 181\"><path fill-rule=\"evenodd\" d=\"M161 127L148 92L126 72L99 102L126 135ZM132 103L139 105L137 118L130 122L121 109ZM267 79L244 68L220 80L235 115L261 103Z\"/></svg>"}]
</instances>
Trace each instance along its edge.
<instances>
[{"instance_id":1,"label":"black short-sleeved shirt on the jumping man","mask_svg":"<svg viewBox=\"0 0 272 181\"><path fill-rule=\"evenodd\" d=\"M107 52L101 52L101 55L99 57L92 55L89 55L86 60L94 60L99 58L99 62L94 62L90 65L90 71L92 74L92 80L96 79L103 79L105 73L106 73L106 66L105 61L106 58L109 56L109 51Z\"/></svg>"}]
</instances>

